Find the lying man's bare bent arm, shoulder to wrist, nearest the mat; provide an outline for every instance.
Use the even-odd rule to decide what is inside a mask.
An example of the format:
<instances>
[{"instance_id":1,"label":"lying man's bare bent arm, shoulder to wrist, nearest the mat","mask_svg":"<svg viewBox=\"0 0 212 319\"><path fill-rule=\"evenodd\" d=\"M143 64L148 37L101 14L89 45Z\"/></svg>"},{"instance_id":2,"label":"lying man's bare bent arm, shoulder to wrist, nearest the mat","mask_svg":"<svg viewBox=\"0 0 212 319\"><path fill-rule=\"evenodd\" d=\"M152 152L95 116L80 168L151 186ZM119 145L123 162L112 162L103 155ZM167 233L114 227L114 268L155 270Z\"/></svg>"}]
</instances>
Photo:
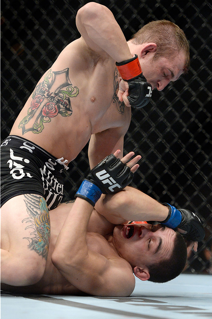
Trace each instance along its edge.
<instances>
[{"instance_id":1,"label":"lying man's bare bent arm, shoulder to wrist, nearest the mat","mask_svg":"<svg viewBox=\"0 0 212 319\"><path fill-rule=\"evenodd\" d=\"M88 249L87 224L93 206L77 198L58 236L52 262L79 290L97 296L129 296L133 274L125 260L107 257Z\"/></svg>"}]
</instances>

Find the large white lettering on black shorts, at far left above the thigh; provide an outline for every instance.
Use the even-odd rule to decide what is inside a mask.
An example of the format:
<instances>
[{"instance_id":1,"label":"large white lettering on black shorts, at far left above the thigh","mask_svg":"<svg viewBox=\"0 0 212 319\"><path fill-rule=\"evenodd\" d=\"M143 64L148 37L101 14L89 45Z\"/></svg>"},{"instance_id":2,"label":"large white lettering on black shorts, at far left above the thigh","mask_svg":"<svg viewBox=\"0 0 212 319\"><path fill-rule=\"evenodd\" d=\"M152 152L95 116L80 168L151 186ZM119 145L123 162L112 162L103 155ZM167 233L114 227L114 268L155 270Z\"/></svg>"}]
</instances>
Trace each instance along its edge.
<instances>
[{"instance_id":1,"label":"large white lettering on black shorts, at far left above the thigh","mask_svg":"<svg viewBox=\"0 0 212 319\"><path fill-rule=\"evenodd\" d=\"M14 152L12 149L10 149L10 158L7 161L7 164L9 164L9 168L10 168L10 174L12 175L12 177L14 179L21 179L23 178L25 175L27 177L33 177L30 175L30 173L24 173L23 168L25 168L24 165L18 163L19 162L25 162L27 164L29 164L29 159L24 159L23 157L19 157L19 156L15 156Z\"/></svg>"}]
</instances>

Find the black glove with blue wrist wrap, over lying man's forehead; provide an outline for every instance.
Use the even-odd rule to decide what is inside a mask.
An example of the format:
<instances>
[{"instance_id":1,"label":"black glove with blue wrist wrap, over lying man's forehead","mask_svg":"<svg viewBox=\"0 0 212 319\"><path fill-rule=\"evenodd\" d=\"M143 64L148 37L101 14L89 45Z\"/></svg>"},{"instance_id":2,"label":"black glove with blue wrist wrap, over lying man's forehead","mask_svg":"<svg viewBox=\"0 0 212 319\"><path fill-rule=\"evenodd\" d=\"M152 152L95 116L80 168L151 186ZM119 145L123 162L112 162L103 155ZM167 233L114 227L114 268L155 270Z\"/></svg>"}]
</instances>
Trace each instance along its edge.
<instances>
[{"instance_id":1,"label":"black glove with blue wrist wrap, over lying man's forehead","mask_svg":"<svg viewBox=\"0 0 212 319\"><path fill-rule=\"evenodd\" d=\"M188 209L176 209L174 206L164 203L163 205L169 208L167 218L160 222L169 228L175 229L180 228L187 231L186 236L191 241L202 241L205 237L205 231L202 226L200 219Z\"/></svg>"}]
</instances>

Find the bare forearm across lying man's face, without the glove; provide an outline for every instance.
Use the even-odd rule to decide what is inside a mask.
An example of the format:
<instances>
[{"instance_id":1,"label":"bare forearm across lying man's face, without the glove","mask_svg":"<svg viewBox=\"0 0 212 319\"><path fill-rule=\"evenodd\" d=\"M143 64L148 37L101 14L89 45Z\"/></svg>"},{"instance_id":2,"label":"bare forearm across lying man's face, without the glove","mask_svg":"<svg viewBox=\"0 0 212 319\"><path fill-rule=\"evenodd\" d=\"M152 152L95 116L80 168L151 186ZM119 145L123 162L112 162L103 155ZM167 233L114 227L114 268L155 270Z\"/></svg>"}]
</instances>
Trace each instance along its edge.
<instances>
[{"instance_id":1,"label":"bare forearm across lying man's face, without the glove","mask_svg":"<svg viewBox=\"0 0 212 319\"><path fill-rule=\"evenodd\" d=\"M112 223L133 221L163 221L168 208L138 189L126 187L114 195L103 195L95 209Z\"/></svg>"}]
</instances>

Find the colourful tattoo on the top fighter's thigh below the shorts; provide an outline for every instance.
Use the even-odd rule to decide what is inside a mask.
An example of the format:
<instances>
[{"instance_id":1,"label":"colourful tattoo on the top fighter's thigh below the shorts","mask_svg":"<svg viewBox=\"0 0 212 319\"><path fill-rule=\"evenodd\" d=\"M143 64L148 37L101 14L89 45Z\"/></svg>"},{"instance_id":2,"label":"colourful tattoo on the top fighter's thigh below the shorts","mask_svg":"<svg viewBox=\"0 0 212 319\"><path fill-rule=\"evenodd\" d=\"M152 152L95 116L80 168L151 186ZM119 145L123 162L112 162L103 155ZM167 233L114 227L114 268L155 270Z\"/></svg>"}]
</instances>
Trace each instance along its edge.
<instances>
[{"instance_id":1,"label":"colourful tattoo on the top fighter's thigh below the shorts","mask_svg":"<svg viewBox=\"0 0 212 319\"><path fill-rule=\"evenodd\" d=\"M29 241L29 248L39 256L47 259L50 241L50 218L46 201L39 195L24 195L28 218L22 220L27 223L25 230L32 229L31 237L24 237Z\"/></svg>"}]
</instances>

